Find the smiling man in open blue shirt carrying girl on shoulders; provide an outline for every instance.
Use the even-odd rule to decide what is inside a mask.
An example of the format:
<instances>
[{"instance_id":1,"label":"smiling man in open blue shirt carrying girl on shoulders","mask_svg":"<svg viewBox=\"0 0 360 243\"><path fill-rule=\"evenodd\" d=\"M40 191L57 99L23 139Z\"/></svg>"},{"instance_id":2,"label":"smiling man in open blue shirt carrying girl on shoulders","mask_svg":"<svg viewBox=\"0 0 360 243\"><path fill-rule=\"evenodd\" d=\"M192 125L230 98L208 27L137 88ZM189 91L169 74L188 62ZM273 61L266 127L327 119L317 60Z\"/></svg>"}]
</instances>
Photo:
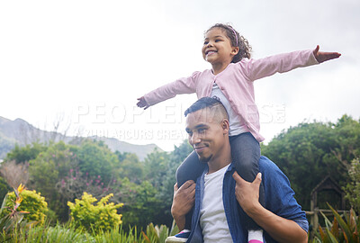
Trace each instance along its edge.
<instances>
[{"instance_id":1,"label":"smiling man in open blue shirt carrying girl on shoulders","mask_svg":"<svg viewBox=\"0 0 360 243\"><path fill-rule=\"evenodd\" d=\"M247 242L247 229L239 213L264 229L266 242L307 242L304 211L293 198L287 177L266 157L253 183L243 180L231 165L229 118L220 101L204 97L185 112L189 142L207 169L194 184L175 184L172 215L184 229L185 215L193 208L187 242ZM266 206L258 202L263 180ZM185 241L185 240L184 240ZM261 241L249 241L261 242Z\"/></svg>"}]
</instances>

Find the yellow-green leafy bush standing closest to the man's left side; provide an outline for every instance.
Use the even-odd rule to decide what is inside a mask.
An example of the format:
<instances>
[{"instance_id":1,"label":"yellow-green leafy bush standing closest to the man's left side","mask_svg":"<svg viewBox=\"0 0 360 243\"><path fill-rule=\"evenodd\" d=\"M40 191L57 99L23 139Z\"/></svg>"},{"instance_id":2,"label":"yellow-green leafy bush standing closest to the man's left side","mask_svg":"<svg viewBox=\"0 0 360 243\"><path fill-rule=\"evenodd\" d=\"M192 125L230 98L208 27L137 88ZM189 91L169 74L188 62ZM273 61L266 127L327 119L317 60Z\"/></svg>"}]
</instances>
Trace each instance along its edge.
<instances>
[{"instance_id":1,"label":"yellow-green leafy bush standing closest to the man's left side","mask_svg":"<svg viewBox=\"0 0 360 243\"><path fill-rule=\"evenodd\" d=\"M79 228L84 228L89 232L99 232L110 230L121 224L121 214L117 209L122 207L122 203L107 203L113 194L104 196L99 202L91 194L84 193L81 200L76 199L75 203L67 202L70 208L71 222Z\"/></svg>"}]
</instances>

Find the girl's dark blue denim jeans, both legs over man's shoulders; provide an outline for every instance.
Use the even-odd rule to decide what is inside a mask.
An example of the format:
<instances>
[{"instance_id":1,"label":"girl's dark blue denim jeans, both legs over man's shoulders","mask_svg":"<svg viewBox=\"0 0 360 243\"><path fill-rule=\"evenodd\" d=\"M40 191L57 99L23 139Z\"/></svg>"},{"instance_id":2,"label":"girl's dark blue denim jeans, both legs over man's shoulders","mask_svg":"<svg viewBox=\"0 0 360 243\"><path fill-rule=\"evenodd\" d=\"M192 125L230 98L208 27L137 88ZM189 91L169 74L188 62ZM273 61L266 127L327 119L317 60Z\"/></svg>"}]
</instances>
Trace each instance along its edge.
<instances>
[{"instance_id":1,"label":"girl's dark blue denim jeans, both legs over man's shoulders","mask_svg":"<svg viewBox=\"0 0 360 243\"><path fill-rule=\"evenodd\" d=\"M258 160L260 158L260 145L250 132L229 137L232 163L240 175L247 182L253 182L259 172ZM180 187L188 180L196 181L202 175L206 164L200 162L196 152L193 151L176 170L176 181ZM234 195L235 196L235 195ZM264 185L260 184L259 202L264 206ZM193 211L186 215L185 229L190 229ZM240 214L241 215L241 214ZM248 229L259 229L257 223L246 214L241 215Z\"/></svg>"}]
</instances>

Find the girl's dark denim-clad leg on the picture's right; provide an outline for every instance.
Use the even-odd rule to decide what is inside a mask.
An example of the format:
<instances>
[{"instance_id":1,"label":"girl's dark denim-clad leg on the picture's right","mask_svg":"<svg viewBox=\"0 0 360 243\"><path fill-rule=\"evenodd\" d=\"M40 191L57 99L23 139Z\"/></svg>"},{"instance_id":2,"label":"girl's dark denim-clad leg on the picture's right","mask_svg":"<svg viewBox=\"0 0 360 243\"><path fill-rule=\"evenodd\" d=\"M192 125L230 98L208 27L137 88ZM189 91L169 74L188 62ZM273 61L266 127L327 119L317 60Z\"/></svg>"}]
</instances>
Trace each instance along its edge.
<instances>
[{"instance_id":1,"label":"girl's dark denim-clad leg on the picture's right","mask_svg":"<svg viewBox=\"0 0 360 243\"><path fill-rule=\"evenodd\" d=\"M258 161L260 158L260 145L250 132L241 133L229 138L231 145L232 163L240 175L247 182L253 182L259 173ZM259 202L265 205L264 184L260 184ZM247 223L247 229L260 229L257 223L247 214L240 213Z\"/></svg>"}]
</instances>

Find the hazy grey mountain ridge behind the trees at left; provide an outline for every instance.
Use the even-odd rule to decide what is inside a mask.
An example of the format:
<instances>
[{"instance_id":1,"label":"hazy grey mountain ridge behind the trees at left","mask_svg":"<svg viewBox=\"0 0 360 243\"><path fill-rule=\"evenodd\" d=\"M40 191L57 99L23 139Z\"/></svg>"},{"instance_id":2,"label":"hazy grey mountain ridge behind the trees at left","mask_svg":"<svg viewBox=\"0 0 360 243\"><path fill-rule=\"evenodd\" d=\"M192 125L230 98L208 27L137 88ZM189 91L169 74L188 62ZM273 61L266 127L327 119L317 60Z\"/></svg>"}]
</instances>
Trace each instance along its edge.
<instances>
[{"instance_id":1,"label":"hazy grey mountain ridge behind the trees at left","mask_svg":"<svg viewBox=\"0 0 360 243\"><path fill-rule=\"evenodd\" d=\"M14 148L15 143L24 146L34 141L47 142L49 140L54 140L55 142L58 142L59 140L63 140L68 143L76 139L85 138L66 136L56 131L40 130L23 119L18 118L12 121L0 116L0 159L6 157L6 154ZM136 145L119 139L96 136L89 137L88 139L102 140L113 152L134 153L140 160L143 160L155 148L162 151L156 144Z\"/></svg>"}]
</instances>

